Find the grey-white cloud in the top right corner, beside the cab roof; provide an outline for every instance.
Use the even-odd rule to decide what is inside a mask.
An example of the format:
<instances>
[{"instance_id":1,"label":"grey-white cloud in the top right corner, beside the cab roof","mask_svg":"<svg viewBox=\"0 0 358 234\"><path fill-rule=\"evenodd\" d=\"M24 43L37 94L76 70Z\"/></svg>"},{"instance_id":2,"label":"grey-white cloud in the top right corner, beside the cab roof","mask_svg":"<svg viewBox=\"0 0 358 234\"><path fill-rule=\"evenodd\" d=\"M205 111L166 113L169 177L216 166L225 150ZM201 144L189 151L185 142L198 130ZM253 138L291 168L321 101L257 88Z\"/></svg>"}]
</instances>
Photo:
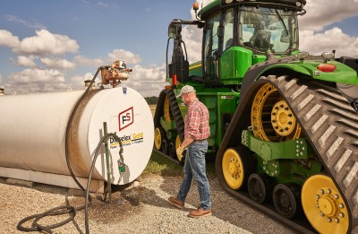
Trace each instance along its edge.
<instances>
[{"instance_id":1,"label":"grey-white cloud in the top right corner, beside the cab roof","mask_svg":"<svg viewBox=\"0 0 358 234\"><path fill-rule=\"evenodd\" d=\"M322 30L334 22L358 15L357 0L307 0L306 14L299 17L300 30Z\"/></svg>"}]
</instances>

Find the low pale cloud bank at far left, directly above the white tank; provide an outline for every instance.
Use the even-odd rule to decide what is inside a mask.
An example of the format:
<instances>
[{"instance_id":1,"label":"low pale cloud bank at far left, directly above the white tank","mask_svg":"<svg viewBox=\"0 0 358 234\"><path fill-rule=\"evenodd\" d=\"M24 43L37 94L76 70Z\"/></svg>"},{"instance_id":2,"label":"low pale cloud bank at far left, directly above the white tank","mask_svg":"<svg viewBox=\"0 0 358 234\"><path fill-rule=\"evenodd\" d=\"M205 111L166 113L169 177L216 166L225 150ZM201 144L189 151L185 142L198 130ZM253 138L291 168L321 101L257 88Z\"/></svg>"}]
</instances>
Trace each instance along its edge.
<instances>
[{"instance_id":1,"label":"low pale cloud bank at far left, directly above the white tank","mask_svg":"<svg viewBox=\"0 0 358 234\"><path fill-rule=\"evenodd\" d=\"M68 84L64 82L64 74L59 71L35 68L10 74L4 87L8 92L29 93L66 91Z\"/></svg>"}]
</instances>

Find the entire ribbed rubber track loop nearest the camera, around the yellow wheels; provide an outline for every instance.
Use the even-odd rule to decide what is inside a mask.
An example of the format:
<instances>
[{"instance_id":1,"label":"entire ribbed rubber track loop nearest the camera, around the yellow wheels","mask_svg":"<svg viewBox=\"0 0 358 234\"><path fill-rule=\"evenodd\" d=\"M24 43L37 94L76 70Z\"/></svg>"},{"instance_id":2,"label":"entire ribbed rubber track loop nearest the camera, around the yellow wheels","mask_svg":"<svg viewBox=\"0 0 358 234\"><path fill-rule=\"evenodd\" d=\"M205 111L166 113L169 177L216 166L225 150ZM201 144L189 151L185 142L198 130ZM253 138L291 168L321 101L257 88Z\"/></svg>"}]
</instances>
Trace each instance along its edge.
<instances>
[{"instance_id":1,"label":"entire ribbed rubber track loop nearest the camera, around the yellow wheels","mask_svg":"<svg viewBox=\"0 0 358 234\"><path fill-rule=\"evenodd\" d=\"M351 220L349 231L358 233L358 115L337 89L320 82L293 79L288 76L268 76L251 84L236 109L232 123L217 151L217 178L220 185L231 195L254 208L286 224L301 233L312 233L307 221L288 220L275 212L271 206L254 203L246 193L227 186L222 175L221 161L227 148L240 144L244 129L251 126L251 103L256 92L265 83L271 83L294 112L312 147L335 182ZM238 139L239 138L239 139Z\"/></svg>"}]
</instances>

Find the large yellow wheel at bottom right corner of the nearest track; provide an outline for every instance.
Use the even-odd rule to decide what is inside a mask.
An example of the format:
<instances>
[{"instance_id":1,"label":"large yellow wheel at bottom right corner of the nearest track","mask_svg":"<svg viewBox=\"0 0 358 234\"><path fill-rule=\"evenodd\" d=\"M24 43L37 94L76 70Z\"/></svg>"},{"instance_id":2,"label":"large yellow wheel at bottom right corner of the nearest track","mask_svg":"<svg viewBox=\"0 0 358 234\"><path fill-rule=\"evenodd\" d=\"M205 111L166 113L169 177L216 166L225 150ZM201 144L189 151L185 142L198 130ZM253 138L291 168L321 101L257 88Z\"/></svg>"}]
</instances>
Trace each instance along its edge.
<instances>
[{"instance_id":1,"label":"large yellow wheel at bottom right corner of the nearest track","mask_svg":"<svg viewBox=\"0 0 358 234\"><path fill-rule=\"evenodd\" d=\"M349 217L345 201L331 178L315 175L302 188L303 211L312 227L320 233L344 234Z\"/></svg>"}]
</instances>

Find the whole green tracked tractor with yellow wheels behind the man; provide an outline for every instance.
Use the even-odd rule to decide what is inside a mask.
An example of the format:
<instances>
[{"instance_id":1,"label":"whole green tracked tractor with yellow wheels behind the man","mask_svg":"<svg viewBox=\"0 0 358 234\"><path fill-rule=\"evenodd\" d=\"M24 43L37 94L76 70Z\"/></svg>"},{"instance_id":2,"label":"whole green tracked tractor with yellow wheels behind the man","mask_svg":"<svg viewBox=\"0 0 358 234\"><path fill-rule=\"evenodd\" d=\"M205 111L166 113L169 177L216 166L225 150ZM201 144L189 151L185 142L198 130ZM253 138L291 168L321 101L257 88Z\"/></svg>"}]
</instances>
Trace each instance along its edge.
<instances>
[{"instance_id":1,"label":"whole green tracked tractor with yellow wheels behind the man","mask_svg":"<svg viewBox=\"0 0 358 234\"><path fill-rule=\"evenodd\" d=\"M154 150L183 141L185 84L209 108L209 152L231 195L303 233L358 232L358 59L299 50L305 0L216 0L173 20L172 61L156 109ZM181 31L203 31L189 65ZM168 47L167 47L168 48Z\"/></svg>"}]
</instances>

